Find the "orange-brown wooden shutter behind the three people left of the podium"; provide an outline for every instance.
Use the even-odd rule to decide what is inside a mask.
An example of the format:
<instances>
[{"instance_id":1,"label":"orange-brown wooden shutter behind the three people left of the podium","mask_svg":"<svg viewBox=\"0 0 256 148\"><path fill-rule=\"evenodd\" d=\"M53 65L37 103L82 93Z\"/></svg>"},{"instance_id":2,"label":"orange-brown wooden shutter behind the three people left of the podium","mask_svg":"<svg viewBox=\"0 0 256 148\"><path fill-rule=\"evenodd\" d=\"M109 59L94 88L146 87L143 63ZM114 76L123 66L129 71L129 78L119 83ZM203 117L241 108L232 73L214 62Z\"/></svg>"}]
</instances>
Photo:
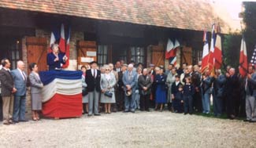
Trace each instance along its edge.
<instances>
[{"instance_id":1,"label":"orange-brown wooden shutter behind the three people left of the podium","mask_svg":"<svg viewBox=\"0 0 256 148\"><path fill-rule=\"evenodd\" d=\"M24 38L26 49L27 49L27 64L37 63L39 71L47 70L47 39L26 37ZM28 72L29 72L28 67Z\"/></svg>"}]
</instances>

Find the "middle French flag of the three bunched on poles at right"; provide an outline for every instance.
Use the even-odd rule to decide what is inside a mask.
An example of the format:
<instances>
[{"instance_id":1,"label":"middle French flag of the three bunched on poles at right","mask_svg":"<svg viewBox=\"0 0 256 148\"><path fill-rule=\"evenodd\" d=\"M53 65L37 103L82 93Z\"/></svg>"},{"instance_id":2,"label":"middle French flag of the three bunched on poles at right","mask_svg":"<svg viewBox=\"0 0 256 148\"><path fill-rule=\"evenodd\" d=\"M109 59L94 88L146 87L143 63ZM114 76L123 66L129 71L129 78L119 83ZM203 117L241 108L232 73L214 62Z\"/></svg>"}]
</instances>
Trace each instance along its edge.
<instances>
[{"instance_id":1,"label":"middle French flag of the three bunched on poles at right","mask_svg":"<svg viewBox=\"0 0 256 148\"><path fill-rule=\"evenodd\" d=\"M212 38L210 41L210 53L209 53L209 60L208 60L208 64L209 64L209 71L213 72L214 69L214 47L215 47L215 41L216 41L216 35L215 35L215 24L213 23L213 29L212 29Z\"/></svg>"}]
</instances>

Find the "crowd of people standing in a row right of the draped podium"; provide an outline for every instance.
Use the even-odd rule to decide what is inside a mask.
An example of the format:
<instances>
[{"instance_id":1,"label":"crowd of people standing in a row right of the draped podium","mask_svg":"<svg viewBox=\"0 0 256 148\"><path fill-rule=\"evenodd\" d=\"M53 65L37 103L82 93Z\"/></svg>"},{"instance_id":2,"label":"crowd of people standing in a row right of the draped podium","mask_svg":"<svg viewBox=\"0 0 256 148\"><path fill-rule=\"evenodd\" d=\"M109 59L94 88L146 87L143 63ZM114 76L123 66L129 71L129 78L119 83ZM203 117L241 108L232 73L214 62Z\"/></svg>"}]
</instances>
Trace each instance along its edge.
<instances>
[{"instance_id":1,"label":"crowd of people standing in a row right of the draped podium","mask_svg":"<svg viewBox=\"0 0 256 148\"><path fill-rule=\"evenodd\" d=\"M244 121L256 121L254 66L249 67L247 77L243 78L230 66L226 67L224 73L220 69L214 72L206 69L201 73L201 62L194 66L183 63L182 67L169 64L165 70L163 66L150 64L150 67L143 67L143 63L136 65L132 61L126 64L121 60L114 67L112 63L100 67L96 72L101 73L98 80L91 77L97 67L97 63L93 62L90 70L87 70L90 67L82 68L89 92L89 95L83 96L89 98L83 101L86 106L84 113L89 116L93 113L99 115L98 110L87 110L87 103L92 109L90 98L93 98L91 100L96 100L95 104L105 104L102 107L98 107L98 104L94 106L97 109L105 108L105 113L111 113L111 109L134 113L135 110L149 111L150 107L154 107L154 110L168 109L184 114L212 112L216 117L225 113L229 119L247 117ZM86 88L86 85L83 87ZM94 96L90 96L92 92ZM113 94L111 99L106 92Z\"/></svg>"}]
</instances>

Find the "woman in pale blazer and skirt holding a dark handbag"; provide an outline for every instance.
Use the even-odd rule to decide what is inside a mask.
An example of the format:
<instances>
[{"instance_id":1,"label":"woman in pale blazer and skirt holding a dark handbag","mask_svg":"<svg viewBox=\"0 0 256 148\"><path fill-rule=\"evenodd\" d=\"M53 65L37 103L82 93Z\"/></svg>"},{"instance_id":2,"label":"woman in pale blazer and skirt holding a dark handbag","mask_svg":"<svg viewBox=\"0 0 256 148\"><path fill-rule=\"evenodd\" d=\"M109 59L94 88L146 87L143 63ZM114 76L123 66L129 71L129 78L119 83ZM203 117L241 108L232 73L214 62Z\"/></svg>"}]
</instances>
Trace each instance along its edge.
<instances>
[{"instance_id":1,"label":"woman in pale blazer and skirt holding a dark handbag","mask_svg":"<svg viewBox=\"0 0 256 148\"><path fill-rule=\"evenodd\" d=\"M105 104L105 113L110 114L111 103L116 103L116 98L114 94L114 86L116 85L116 78L113 73L110 73L110 68L108 65L104 67L105 73L101 75L101 99L100 102ZM105 93L112 93L112 97L106 96Z\"/></svg>"}]
</instances>

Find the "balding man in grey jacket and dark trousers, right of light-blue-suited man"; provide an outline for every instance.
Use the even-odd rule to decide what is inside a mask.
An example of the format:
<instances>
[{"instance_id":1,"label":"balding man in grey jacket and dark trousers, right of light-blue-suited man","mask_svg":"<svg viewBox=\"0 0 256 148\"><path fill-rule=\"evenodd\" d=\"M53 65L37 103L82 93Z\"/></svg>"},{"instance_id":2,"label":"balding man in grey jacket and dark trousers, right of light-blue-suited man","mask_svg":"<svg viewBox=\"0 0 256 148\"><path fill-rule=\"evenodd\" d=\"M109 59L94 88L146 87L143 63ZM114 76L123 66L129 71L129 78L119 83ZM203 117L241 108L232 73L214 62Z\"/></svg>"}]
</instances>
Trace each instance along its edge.
<instances>
[{"instance_id":1,"label":"balding man in grey jacket and dark trousers, right of light-blue-suited man","mask_svg":"<svg viewBox=\"0 0 256 148\"><path fill-rule=\"evenodd\" d=\"M139 76L138 84L140 94L140 110L150 111L149 103L152 81L150 76L148 75L147 68L144 68L143 75Z\"/></svg>"}]
</instances>

